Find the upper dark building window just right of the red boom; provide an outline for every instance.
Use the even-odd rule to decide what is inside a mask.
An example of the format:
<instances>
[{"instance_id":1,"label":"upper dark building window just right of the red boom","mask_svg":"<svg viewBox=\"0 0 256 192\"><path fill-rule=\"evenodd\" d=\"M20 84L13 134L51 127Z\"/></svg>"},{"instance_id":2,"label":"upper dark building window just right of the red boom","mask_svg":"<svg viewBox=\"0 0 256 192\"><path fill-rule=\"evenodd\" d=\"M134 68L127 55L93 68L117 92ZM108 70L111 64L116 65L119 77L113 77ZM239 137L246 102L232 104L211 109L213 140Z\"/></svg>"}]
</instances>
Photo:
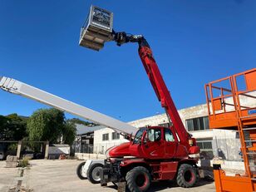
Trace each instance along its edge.
<instances>
[{"instance_id":1,"label":"upper dark building window just right of the red boom","mask_svg":"<svg viewBox=\"0 0 256 192\"><path fill-rule=\"evenodd\" d=\"M189 131L209 130L208 116L201 116L194 119L186 120L186 127Z\"/></svg>"}]
</instances>

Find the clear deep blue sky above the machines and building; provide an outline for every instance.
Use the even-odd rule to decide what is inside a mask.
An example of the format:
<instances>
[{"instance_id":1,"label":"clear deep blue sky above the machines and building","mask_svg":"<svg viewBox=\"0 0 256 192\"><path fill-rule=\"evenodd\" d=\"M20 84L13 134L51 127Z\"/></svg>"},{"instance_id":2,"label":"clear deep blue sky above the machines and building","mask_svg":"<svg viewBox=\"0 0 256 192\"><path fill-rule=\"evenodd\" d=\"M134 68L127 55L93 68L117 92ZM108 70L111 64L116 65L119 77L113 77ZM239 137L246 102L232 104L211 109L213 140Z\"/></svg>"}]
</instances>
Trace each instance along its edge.
<instances>
[{"instance_id":1,"label":"clear deep blue sky above the machines and building","mask_svg":"<svg viewBox=\"0 0 256 192\"><path fill-rule=\"evenodd\" d=\"M253 0L1 0L0 76L121 121L162 113L137 45L78 46L91 4L114 12L116 31L147 38L178 109L204 103L204 83L255 67ZM2 115L46 107L4 91L0 98Z\"/></svg>"}]
</instances>

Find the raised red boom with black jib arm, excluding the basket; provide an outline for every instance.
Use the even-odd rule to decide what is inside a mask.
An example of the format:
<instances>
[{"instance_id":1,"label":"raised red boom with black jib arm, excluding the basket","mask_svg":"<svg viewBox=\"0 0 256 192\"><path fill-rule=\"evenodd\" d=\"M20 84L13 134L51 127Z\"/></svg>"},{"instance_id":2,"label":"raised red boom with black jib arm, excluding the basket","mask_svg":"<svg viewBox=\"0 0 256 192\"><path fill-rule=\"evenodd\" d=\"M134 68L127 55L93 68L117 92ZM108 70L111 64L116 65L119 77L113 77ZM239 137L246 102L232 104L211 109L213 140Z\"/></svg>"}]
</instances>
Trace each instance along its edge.
<instances>
[{"instance_id":1,"label":"raised red boom with black jib arm, excluding the basket","mask_svg":"<svg viewBox=\"0 0 256 192\"><path fill-rule=\"evenodd\" d=\"M115 41L118 46L121 46L127 42L137 42L139 44L140 60L145 67L145 71L150 79L151 85L155 90L155 94L158 100L161 102L161 106L165 108L166 115L173 123L173 127L177 135L179 136L180 144L185 145L188 149L190 146L195 145L195 140L190 140L191 135L185 129L179 112L176 109L175 103L170 96L170 91L165 85L165 81L160 73L160 70L153 57L152 50L149 43L142 35L127 35L126 32L116 32L114 34Z\"/></svg>"}]
</instances>

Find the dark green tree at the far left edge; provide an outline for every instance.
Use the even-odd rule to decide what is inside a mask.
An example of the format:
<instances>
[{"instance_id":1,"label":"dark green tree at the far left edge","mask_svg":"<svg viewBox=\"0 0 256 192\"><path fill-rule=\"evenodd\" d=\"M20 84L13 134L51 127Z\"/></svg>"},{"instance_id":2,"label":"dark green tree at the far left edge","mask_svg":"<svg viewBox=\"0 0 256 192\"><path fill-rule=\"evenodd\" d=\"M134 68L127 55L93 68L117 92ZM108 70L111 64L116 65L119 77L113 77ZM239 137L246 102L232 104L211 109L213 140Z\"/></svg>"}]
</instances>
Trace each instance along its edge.
<instances>
[{"instance_id":1,"label":"dark green tree at the far left edge","mask_svg":"<svg viewBox=\"0 0 256 192\"><path fill-rule=\"evenodd\" d=\"M27 120L16 113L0 116L0 140L22 140L27 136Z\"/></svg>"}]
</instances>

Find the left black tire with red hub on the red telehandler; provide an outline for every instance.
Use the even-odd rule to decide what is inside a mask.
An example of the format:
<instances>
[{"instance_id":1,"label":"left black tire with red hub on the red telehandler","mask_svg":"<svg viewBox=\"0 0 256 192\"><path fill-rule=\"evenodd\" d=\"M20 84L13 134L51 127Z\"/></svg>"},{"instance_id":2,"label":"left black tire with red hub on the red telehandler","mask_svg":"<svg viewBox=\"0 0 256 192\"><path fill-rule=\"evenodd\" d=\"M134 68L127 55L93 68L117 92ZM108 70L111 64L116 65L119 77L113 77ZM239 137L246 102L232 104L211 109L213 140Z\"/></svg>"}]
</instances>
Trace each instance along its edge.
<instances>
[{"instance_id":1,"label":"left black tire with red hub on the red telehandler","mask_svg":"<svg viewBox=\"0 0 256 192\"><path fill-rule=\"evenodd\" d=\"M130 192L144 192L150 188L151 177L149 170L137 166L126 174L126 185Z\"/></svg>"}]
</instances>

